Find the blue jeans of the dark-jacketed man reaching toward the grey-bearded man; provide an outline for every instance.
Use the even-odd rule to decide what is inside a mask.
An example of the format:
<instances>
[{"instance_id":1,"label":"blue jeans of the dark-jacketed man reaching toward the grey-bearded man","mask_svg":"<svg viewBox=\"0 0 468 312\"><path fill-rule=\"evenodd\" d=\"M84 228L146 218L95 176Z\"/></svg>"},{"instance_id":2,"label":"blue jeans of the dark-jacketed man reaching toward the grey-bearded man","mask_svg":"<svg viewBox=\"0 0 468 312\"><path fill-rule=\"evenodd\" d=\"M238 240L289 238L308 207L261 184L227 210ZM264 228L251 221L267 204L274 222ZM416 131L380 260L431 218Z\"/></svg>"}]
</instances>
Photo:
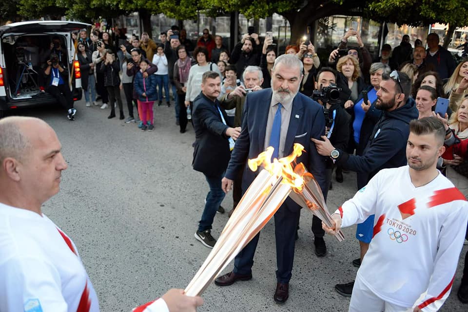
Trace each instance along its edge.
<instances>
[{"instance_id":1,"label":"blue jeans of the dark-jacketed man reaching toward the grey-bearded man","mask_svg":"<svg viewBox=\"0 0 468 312\"><path fill-rule=\"evenodd\" d=\"M219 176L207 176L205 174L205 179L210 186L210 191L208 195L206 195L205 209L203 209L203 214L198 224L199 232L211 230L213 228L212 224L213 219L215 219L216 211L226 195L221 188L221 180L223 177L224 172Z\"/></svg>"}]
</instances>

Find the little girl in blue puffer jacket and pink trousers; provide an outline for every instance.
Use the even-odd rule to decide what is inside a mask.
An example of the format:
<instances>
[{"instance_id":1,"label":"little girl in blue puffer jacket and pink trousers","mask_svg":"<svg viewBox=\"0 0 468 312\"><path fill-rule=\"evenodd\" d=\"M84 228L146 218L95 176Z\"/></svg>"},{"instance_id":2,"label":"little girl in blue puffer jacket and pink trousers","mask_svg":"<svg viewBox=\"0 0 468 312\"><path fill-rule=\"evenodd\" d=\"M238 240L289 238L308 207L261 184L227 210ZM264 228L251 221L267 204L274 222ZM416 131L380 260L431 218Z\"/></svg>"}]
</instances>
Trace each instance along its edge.
<instances>
[{"instance_id":1,"label":"little girl in blue puffer jacket and pink trousers","mask_svg":"<svg viewBox=\"0 0 468 312\"><path fill-rule=\"evenodd\" d=\"M138 95L138 100L141 104L141 121L143 126L141 131L153 131L155 126L153 125L154 113L153 113L153 104L155 103L156 96L156 75L148 75L147 78L143 77L143 73L146 72L149 65L145 59L140 61L140 70L137 72L134 81L135 92ZM150 120L149 125L147 126L147 112L149 112Z\"/></svg>"}]
</instances>

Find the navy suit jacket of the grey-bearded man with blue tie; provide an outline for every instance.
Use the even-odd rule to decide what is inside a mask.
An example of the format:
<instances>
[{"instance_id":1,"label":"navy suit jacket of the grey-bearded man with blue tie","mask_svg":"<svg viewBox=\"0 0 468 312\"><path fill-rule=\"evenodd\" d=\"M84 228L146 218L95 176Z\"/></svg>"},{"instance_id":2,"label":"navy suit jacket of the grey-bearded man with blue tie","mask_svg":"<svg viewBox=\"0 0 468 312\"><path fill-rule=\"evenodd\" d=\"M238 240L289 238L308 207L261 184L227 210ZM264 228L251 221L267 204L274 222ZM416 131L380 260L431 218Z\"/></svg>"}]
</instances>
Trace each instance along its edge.
<instances>
[{"instance_id":1,"label":"navy suit jacket of the grey-bearded man with blue tie","mask_svg":"<svg viewBox=\"0 0 468 312\"><path fill-rule=\"evenodd\" d=\"M237 139L234 150L226 170L226 177L234 180L237 172L244 169L248 159L258 156L264 150L265 132L268 112L272 100L272 89L251 92L247 95L242 115L242 131ZM297 163L303 163L313 174L327 198L328 187L325 187L325 158L317 153L311 138L320 139L325 134L325 117L320 104L297 93L292 101L291 120L284 151L286 155L292 153L294 143L304 146L305 152L297 158ZM261 169L253 172L245 167L242 177L242 189L245 191L254 181ZM300 206L287 199L286 206L290 209L300 209Z\"/></svg>"}]
</instances>

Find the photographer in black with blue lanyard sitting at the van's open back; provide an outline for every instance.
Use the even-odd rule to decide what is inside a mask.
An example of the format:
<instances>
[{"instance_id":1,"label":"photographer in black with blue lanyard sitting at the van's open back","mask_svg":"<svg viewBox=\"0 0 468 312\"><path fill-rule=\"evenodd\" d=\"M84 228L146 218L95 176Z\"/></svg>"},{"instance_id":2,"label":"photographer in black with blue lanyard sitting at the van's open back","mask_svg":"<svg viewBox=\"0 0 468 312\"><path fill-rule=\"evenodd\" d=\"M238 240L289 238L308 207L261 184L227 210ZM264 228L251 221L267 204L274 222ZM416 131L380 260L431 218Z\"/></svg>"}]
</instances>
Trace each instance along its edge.
<instances>
[{"instance_id":1,"label":"photographer in black with blue lanyard sitting at the van's open back","mask_svg":"<svg viewBox=\"0 0 468 312\"><path fill-rule=\"evenodd\" d=\"M73 108L73 96L68 87L68 72L65 68L60 65L59 56L52 53L44 71L46 81L48 81L45 91L57 98L60 105L67 110L69 120L75 120L77 110Z\"/></svg>"}]
</instances>

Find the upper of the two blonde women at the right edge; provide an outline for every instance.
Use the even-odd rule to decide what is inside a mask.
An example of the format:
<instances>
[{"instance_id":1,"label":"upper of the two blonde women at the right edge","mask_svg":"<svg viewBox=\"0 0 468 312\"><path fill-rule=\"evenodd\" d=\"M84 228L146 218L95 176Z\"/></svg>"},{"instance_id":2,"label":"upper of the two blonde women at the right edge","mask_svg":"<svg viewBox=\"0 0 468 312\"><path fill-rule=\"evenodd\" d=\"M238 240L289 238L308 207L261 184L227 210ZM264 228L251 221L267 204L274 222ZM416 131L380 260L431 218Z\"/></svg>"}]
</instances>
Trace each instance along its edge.
<instances>
[{"instance_id":1,"label":"upper of the two blonde women at the right edge","mask_svg":"<svg viewBox=\"0 0 468 312\"><path fill-rule=\"evenodd\" d=\"M468 60L465 59L453 71L444 85L444 91L449 94L450 109L456 111L462 102L462 99L467 96L468 89Z\"/></svg>"}]
</instances>

